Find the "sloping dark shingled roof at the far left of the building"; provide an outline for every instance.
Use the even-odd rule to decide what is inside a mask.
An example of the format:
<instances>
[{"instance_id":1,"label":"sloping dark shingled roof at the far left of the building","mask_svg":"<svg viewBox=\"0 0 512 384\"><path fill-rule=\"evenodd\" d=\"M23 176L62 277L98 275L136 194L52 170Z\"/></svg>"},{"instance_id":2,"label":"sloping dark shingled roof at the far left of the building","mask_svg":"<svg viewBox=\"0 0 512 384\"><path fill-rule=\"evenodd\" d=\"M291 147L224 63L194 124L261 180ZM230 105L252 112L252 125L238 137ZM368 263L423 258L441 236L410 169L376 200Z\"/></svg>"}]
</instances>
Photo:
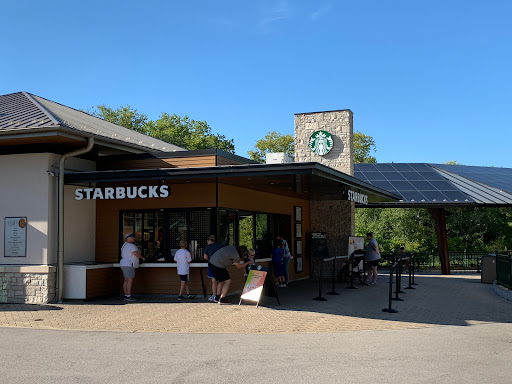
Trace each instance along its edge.
<instances>
[{"instance_id":1,"label":"sloping dark shingled roof at the far left of the building","mask_svg":"<svg viewBox=\"0 0 512 384\"><path fill-rule=\"evenodd\" d=\"M135 146L145 151L186 151L185 148L27 92L0 96L0 133L43 128L67 128L85 136Z\"/></svg>"}]
</instances>

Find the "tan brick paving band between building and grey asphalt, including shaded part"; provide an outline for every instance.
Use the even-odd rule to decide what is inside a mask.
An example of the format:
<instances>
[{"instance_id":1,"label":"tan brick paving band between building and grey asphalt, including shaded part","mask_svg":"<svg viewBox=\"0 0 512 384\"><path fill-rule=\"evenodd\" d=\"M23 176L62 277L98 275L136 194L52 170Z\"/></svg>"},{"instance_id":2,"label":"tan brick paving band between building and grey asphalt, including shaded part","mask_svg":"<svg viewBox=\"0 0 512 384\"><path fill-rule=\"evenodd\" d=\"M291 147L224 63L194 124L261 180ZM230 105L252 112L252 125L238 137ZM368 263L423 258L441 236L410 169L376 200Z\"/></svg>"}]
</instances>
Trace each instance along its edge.
<instances>
[{"instance_id":1,"label":"tan brick paving band between building and grey asphalt, including shaded part","mask_svg":"<svg viewBox=\"0 0 512 384\"><path fill-rule=\"evenodd\" d=\"M509 323L512 302L496 295L492 286L480 283L480 275L416 276L415 290L404 290L404 301L393 301L398 313L382 312L388 306L386 275L376 286L347 289L337 283L338 296L323 286L327 301L315 301L318 282L303 280L277 288L281 305L264 297L255 304L218 305L199 297L179 302L176 296L138 296L126 304L121 298L88 302L29 305L0 304L0 327L119 332L173 333L325 333L353 330L426 328L443 325Z\"/></svg>"}]
</instances>

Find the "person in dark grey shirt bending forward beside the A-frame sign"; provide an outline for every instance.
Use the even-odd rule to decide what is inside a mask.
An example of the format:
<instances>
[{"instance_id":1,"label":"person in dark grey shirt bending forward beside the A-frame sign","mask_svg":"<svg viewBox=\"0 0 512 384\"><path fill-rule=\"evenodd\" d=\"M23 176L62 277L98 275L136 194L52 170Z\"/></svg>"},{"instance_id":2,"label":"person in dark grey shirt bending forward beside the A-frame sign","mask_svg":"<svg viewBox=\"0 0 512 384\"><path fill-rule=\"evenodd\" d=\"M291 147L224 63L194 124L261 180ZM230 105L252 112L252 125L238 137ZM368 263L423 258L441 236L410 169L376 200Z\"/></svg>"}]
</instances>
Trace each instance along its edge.
<instances>
[{"instance_id":1,"label":"person in dark grey shirt bending forward beside the A-frame sign","mask_svg":"<svg viewBox=\"0 0 512 384\"><path fill-rule=\"evenodd\" d=\"M226 269L230 265L234 265L237 269L245 268L247 265L253 264L254 260L240 263L240 251L233 245L226 245L215 252L208 261L210 271L212 271L215 280L217 280L217 295L215 302L219 304L231 304L226 299L226 295L231 285L231 277Z\"/></svg>"}]
</instances>

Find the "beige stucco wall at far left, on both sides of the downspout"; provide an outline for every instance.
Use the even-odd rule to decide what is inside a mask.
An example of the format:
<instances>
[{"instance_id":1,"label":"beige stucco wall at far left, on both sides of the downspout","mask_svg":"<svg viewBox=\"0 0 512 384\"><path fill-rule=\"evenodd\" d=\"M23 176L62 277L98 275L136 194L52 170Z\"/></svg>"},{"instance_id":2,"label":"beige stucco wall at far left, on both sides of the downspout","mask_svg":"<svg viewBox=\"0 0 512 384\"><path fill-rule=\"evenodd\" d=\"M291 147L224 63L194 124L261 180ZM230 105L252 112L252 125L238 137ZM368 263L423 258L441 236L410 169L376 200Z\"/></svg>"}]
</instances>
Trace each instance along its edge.
<instances>
[{"instance_id":1,"label":"beige stucco wall at far left, on both sides of the downspout","mask_svg":"<svg viewBox=\"0 0 512 384\"><path fill-rule=\"evenodd\" d=\"M0 156L0 264L57 263L57 177L49 171L58 168L59 158L49 153ZM66 169L94 170L95 164L70 159ZM74 190L65 187L65 259L94 260L96 205L94 201L75 201ZM27 256L5 257L5 217L17 216L27 217Z\"/></svg>"}]
</instances>

